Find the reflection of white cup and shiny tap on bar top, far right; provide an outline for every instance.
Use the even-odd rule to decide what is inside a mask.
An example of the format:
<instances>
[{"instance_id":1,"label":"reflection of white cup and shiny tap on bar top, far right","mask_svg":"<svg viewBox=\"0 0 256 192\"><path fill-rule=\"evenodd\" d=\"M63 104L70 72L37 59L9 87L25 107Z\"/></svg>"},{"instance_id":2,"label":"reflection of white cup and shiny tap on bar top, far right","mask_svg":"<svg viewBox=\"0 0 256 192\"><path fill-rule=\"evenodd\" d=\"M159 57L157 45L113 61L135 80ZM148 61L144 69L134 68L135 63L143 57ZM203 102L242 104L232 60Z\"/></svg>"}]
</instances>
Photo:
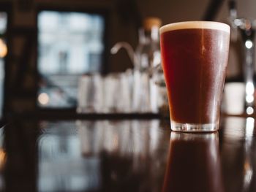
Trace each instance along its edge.
<instances>
[{"instance_id":1,"label":"reflection of white cup and shiny tap on bar top, far right","mask_svg":"<svg viewBox=\"0 0 256 192\"><path fill-rule=\"evenodd\" d=\"M222 171L225 191L256 191L255 118L225 118ZM228 154L228 155L227 155Z\"/></svg>"}]
</instances>

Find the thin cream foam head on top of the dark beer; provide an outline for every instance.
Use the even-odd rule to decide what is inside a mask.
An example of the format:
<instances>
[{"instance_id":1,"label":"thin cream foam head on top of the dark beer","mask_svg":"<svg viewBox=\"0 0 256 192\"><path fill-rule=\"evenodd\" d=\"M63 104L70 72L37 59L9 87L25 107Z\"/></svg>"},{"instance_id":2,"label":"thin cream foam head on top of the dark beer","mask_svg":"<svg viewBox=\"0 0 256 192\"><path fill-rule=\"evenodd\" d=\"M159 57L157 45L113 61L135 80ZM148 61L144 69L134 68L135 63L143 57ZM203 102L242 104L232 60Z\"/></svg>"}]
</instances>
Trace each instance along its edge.
<instances>
[{"instance_id":1,"label":"thin cream foam head on top of the dark beer","mask_svg":"<svg viewBox=\"0 0 256 192\"><path fill-rule=\"evenodd\" d=\"M230 26L225 23L219 23L214 21L185 21L179 23L170 23L160 28L160 34L166 31L173 31L178 29L189 28L206 28L225 31L230 34Z\"/></svg>"}]
</instances>

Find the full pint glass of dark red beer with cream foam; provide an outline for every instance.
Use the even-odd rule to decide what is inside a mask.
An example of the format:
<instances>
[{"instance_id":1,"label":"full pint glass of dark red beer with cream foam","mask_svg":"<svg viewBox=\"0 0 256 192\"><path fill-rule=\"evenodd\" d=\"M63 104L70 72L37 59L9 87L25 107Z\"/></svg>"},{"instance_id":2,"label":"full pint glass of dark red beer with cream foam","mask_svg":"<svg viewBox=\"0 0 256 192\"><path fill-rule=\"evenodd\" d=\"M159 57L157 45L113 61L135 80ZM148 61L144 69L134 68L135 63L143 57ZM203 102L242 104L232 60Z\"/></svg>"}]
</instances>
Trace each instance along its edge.
<instances>
[{"instance_id":1,"label":"full pint glass of dark red beer with cream foam","mask_svg":"<svg viewBox=\"0 0 256 192\"><path fill-rule=\"evenodd\" d=\"M162 67L173 131L217 131L230 26L208 21L160 28Z\"/></svg>"}]
</instances>

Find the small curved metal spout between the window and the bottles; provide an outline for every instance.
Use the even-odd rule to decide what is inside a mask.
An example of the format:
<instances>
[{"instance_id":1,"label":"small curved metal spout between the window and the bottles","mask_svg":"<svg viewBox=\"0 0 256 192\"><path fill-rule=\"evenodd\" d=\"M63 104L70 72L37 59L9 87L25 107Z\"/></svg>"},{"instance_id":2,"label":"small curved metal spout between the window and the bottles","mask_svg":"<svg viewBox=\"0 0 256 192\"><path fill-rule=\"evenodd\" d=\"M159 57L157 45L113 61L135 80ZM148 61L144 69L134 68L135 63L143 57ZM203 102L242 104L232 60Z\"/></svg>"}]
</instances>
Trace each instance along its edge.
<instances>
[{"instance_id":1,"label":"small curved metal spout between the window and the bottles","mask_svg":"<svg viewBox=\"0 0 256 192\"><path fill-rule=\"evenodd\" d=\"M121 48L124 48L124 50L127 51L127 54L129 56L129 58L131 59L132 61L132 64L133 66L138 66L138 58L137 56L135 55L135 51L133 50L132 46L129 45L128 42L117 42L110 50L110 53L111 54L116 54L118 53L118 51L121 49Z\"/></svg>"}]
</instances>

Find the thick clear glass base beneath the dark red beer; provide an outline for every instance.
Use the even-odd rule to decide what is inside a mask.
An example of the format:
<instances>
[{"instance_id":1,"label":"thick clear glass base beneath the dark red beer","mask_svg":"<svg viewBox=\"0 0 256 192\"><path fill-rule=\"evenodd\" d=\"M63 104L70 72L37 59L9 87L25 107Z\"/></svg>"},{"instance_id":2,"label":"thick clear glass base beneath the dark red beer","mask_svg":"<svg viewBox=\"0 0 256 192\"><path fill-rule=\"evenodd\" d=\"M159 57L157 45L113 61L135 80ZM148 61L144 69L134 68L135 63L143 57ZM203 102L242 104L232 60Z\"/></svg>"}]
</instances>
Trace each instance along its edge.
<instances>
[{"instance_id":1,"label":"thick clear glass base beneath the dark red beer","mask_svg":"<svg viewBox=\"0 0 256 192\"><path fill-rule=\"evenodd\" d=\"M193 123L176 123L171 121L170 128L173 131L181 131L181 132L213 132L213 131L218 131L219 123L193 124Z\"/></svg>"}]
</instances>

